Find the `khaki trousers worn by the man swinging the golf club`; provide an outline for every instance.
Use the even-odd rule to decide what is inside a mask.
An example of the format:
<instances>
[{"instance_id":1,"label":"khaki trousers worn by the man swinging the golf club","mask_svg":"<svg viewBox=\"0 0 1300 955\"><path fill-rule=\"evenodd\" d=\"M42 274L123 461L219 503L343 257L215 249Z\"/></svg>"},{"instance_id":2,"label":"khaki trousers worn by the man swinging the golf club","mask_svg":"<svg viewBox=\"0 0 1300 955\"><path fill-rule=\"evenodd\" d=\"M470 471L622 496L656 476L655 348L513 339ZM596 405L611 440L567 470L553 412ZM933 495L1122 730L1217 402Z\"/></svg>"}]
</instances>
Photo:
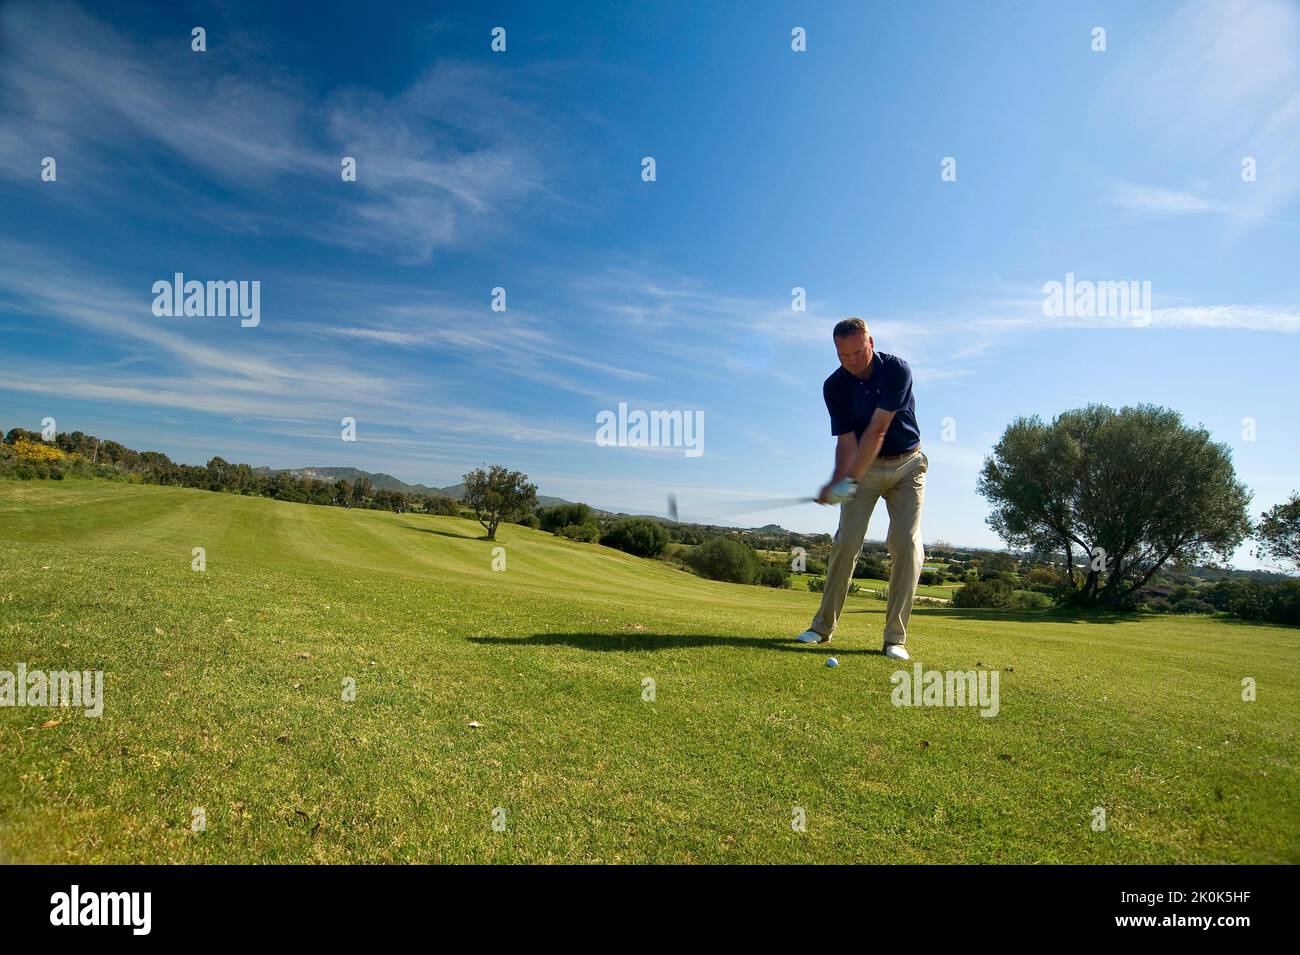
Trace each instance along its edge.
<instances>
[{"instance_id":1,"label":"khaki trousers worn by the man swinging the golf club","mask_svg":"<svg viewBox=\"0 0 1300 955\"><path fill-rule=\"evenodd\" d=\"M889 603L885 609L885 643L907 642L907 618L911 599L926 563L920 542L920 505L926 499L926 472L930 459L916 448L910 455L892 461L875 460L862 476L858 492L840 505L840 530L831 544L831 563L826 568L826 592L822 607L812 617L812 630L823 637L835 633L835 625L844 612L844 599L849 595L853 569L862 555L862 542L867 535L867 521L876 509L876 502L885 499L889 512Z\"/></svg>"}]
</instances>

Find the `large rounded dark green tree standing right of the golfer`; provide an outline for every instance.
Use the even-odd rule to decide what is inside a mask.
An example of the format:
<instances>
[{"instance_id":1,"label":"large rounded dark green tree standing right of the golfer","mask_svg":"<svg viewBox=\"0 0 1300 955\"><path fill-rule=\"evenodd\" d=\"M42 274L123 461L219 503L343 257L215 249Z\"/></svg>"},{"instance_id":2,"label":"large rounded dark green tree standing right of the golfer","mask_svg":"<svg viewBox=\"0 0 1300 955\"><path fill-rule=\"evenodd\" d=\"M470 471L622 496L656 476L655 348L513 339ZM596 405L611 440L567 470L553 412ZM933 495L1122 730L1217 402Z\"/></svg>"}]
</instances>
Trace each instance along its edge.
<instances>
[{"instance_id":1,"label":"large rounded dark green tree standing right of the golfer","mask_svg":"<svg viewBox=\"0 0 1300 955\"><path fill-rule=\"evenodd\" d=\"M1008 544L1065 552L1082 604L1131 603L1166 561L1226 560L1251 529L1251 495L1227 446L1145 404L1089 405L1050 425L1015 420L985 459L979 491Z\"/></svg>"}]
</instances>

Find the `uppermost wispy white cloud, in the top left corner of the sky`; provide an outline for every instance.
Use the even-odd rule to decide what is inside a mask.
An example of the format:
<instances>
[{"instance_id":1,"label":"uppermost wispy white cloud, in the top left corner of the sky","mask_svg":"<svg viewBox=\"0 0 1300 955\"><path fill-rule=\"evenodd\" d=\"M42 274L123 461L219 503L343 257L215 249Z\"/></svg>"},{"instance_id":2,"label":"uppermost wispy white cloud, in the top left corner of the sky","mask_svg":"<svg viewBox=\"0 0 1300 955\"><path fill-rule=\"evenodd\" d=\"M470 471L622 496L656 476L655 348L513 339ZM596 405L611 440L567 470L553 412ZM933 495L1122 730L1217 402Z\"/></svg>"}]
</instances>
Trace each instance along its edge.
<instances>
[{"instance_id":1,"label":"uppermost wispy white cloud, in the top left corner of the sky","mask_svg":"<svg viewBox=\"0 0 1300 955\"><path fill-rule=\"evenodd\" d=\"M140 205L159 200L129 187L152 178L182 194L188 213L234 231L424 261L500 230L500 210L546 192L555 149L549 162L538 149L563 139L506 88L510 74L472 64L436 62L391 97L321 97L238 47L225 60L187 42L147 47L65 3L5 4L0 35L0 175L31 179L34 157L53 155L62 179L99 183L105 196L125 190ZM259 208L216 205L147 161L150 151ZM342 182L343 156L356 160L356 182Z\"/></svg>"}]
</instances>

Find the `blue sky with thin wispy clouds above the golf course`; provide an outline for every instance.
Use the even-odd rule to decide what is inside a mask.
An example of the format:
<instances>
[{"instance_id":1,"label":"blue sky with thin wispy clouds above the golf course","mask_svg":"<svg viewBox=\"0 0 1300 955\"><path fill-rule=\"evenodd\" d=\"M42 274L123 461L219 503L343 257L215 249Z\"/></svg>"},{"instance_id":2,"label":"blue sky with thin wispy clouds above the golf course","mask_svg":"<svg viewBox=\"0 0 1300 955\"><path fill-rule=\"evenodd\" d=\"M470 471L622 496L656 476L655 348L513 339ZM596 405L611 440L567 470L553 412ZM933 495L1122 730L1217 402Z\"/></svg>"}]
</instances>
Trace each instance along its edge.
<instances>
[{"instance_id":1,"label":"blue sky with thin wispy clouds above the golf course","mask_svg":"<svg viewBox=\"0 0 1300 955\"><path fill-rule=\"evenodd\" d=\"M829 476L857 314L915 372L927 539L996 544L984 455L1089 401L1204 424L1254 513L1300 485L1291 0L264 6L0 5L0 426L707 520ZM176 272L261 324L153 316ZM1045 317L1066 273L1152 321ZM597 446L620 401L705 453Z\"/></svg>"}]
</instances>

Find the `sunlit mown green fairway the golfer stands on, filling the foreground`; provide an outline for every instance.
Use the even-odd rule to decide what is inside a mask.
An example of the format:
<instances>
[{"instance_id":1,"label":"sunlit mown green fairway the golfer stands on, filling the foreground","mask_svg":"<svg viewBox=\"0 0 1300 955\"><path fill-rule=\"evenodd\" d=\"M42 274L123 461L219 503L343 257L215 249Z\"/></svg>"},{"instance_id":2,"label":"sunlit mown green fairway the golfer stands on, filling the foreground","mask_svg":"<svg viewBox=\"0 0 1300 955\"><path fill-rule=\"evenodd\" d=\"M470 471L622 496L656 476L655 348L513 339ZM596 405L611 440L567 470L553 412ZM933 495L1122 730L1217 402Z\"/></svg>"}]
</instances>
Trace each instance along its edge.
<instances>
[{"instance_id":1,"label":"sunlit mown green fairway the golfer stands on, filling the foreground","mask_svg":"<svg viewBox=\"0 0 1300 955\"><path fill-rule=\"evenodd\" d=\"M892 706L879 600L809 648L814 594L481 533L0 482L0 669L105 672L99 719L0 708L0 861L1300 858L1295 629L919 609L914 660L1001 672L984 719Z\"/></svg>"}]
</instances>

